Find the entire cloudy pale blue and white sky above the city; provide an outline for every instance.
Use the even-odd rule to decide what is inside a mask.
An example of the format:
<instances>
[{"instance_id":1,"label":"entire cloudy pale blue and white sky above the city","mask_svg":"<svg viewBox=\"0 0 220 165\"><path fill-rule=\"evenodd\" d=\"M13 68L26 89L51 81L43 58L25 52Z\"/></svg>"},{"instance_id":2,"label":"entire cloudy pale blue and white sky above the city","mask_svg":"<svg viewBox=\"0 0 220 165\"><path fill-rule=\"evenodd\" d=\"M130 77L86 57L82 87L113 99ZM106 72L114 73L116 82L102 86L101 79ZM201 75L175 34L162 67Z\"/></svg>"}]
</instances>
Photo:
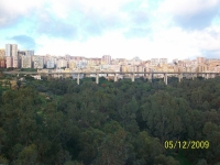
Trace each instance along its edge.
<instances>
[{"instance_id":1,"label":"entire cloudy pale blue and white sky above the city","mask_svg":"<svg viewBox=\"0 0 220 165\"><path fill-rule=\"evenodd\" d=\"M0 0L0 48L36 55L220 58L220 0Z\"/></svg>"}]
</instances>

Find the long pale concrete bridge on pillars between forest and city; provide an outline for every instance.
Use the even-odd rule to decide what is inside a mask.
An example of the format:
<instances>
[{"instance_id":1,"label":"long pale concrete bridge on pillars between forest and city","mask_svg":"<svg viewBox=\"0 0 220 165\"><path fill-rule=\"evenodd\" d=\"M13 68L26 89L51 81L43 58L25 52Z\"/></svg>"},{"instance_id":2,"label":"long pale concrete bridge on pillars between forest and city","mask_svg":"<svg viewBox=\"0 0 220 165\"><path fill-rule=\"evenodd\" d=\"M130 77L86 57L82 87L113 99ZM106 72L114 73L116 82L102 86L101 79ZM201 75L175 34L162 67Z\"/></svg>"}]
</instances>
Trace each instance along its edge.
<instances>
[{"instance_id":1,"label":"long pale concrete bridge on pillars between forest and city","mask_svg":"<svg viewBox=\"0 0 220 165\"><path fill-rule=\"evenodd\" d=\"M79 85L79 76L82 75L96 75L96 84L99 84L99 76L100 75L113 75L114 81L118 80L119 75L130 75L131 80L134 81L136 75L142 75L142 77L147 77L150 81L152 81L153 75L163 75L164 82L167 85L168 76L176 76L178 77L178 81L183 79L184 75L190 75L191 79L195 77L198 77L201 75L206 79L208 78L215 78L216 76L220 76L220 73L195 73L195 72L68 72L68 73L59 73L59 72L3 72L3 74L8 75L43 75L43 76L53 76L53 75L61 75L62 77L70 76L70 75L77 75L77 84Z\"/></svg>"}]
</instances>

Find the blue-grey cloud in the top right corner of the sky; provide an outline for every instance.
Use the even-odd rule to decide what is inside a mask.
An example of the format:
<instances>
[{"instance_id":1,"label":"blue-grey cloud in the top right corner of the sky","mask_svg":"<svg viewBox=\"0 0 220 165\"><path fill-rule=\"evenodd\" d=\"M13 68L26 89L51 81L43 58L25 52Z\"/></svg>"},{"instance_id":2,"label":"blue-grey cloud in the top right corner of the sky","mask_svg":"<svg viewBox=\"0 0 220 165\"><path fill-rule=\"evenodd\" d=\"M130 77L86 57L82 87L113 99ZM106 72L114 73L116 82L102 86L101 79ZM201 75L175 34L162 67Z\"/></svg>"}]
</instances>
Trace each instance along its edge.
<instances>
[{"instance_id":1,"label":"blue-grey cloud in the top right corner of the sky","mask_svg":"<svg viewBox=\"0 0 220 165\"><path fill-rule=\"evenodd\" d=\"M186 30L202 30L220 11L220 0L165 0L160 7L172 14L175 24Z\"/></svg>"}]
</instances>

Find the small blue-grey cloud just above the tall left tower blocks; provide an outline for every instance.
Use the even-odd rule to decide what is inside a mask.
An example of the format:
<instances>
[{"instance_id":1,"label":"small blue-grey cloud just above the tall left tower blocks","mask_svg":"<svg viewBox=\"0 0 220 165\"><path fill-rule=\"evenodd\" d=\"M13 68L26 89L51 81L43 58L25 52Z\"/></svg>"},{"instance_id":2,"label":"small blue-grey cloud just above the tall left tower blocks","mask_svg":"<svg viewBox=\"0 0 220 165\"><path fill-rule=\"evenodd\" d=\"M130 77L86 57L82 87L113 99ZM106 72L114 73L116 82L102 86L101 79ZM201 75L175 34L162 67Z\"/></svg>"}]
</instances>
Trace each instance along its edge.
<instances>
[{"instance_id":1,"label":"small blue-grey cloud just above the tall left tower blocks","mask_svg":"<svg viewBox=\"0 0 220 165\"><path fill-rule=\"evenodd\" d=\"M23 47L25 46L25 48L28 50L34 50L36 46L35 41L31 36L28 36L28 35L15 35L11 37L11 40L15 41Z\"/></svg>"}]
</instances>

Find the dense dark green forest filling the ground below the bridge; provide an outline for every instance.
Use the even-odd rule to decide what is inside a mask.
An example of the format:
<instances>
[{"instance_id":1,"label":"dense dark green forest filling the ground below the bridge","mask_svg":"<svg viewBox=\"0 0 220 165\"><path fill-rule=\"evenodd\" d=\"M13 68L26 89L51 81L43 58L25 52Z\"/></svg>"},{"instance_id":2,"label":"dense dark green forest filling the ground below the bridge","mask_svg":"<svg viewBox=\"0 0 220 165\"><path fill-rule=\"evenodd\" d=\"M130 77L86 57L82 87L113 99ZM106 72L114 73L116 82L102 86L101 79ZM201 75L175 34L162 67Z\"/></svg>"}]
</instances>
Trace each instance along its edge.
<instances>
[{"instance_id":1,"label":"dense dark green forest filling the ground below the bridge","mask_svg":"<svg viewBox=\"0 0 220 165\"><path fill-rule=\"evenodd\" d=\"M220 77L2 84L0 164L220 165Z\"/></svg>"}]
</instances>

